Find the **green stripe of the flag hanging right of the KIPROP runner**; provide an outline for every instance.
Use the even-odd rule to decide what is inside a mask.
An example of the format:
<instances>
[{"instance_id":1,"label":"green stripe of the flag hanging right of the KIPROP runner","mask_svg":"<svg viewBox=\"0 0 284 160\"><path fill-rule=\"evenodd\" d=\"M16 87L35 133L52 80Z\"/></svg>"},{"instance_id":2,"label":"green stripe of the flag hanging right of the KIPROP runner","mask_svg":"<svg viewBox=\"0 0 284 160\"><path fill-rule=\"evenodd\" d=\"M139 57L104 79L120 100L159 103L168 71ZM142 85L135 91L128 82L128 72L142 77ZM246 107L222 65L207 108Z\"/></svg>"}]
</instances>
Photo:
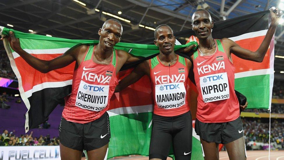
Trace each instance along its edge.
<instances>
[{"instance_id":1,"label":"green stripe of the flag hanging right of the KIPROP runner","mask_svg":"<svg viewBox=\"0 0 284 160\"><path fill-rule=\"evenodd\" d=\"M235 90L246 96L247 108L269 108L269 74L236 78Z\"/></svg>"}]
</instances>

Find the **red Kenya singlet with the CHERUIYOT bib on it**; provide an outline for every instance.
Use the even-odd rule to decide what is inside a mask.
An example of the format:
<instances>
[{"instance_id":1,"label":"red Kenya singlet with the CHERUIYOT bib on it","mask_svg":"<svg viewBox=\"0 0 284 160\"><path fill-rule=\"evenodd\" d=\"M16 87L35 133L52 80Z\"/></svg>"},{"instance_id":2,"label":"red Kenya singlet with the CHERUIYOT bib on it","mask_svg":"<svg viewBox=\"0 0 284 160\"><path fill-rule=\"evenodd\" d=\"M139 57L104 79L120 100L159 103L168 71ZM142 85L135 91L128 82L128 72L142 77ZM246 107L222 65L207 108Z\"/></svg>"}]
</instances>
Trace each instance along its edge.
<instances>
[{"instance_id":1,"label":"red Kenya singlet with the CHERUIYOT bib on it","mask_svg":"<svg viewBox=\"0 0 284 160\"><path fill-rule=\"evenodd\" d=\"M74 71L72 91L65 97L62 116L75 123L89 123L102 116L109 108L109 101L118 80L116 78L116 50L110 64L93 62L95 46L89 46L84 61Z\"/></svg>"}]
</instances>

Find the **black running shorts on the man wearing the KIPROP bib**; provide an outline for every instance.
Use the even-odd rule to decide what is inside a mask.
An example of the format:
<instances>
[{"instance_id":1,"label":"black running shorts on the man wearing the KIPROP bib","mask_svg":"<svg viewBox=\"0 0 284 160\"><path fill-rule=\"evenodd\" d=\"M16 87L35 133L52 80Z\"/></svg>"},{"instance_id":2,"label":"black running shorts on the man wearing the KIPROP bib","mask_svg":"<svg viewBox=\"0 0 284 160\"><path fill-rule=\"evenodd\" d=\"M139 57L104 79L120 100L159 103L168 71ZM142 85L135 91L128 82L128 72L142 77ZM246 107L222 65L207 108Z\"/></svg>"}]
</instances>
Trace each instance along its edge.
<instances>
[{"instance_id":1,"label":"black running shorts on the man wearing the KIPROP bib","mask_svg":"<svg viewBox=\"0 0 284 160\"><path fill-rule=\"evenodd\" d=\"M224 123L203 123L197 118L195 132L207 142L227 144L244 136L241 117Z\"/></svg>"}]
</instances>

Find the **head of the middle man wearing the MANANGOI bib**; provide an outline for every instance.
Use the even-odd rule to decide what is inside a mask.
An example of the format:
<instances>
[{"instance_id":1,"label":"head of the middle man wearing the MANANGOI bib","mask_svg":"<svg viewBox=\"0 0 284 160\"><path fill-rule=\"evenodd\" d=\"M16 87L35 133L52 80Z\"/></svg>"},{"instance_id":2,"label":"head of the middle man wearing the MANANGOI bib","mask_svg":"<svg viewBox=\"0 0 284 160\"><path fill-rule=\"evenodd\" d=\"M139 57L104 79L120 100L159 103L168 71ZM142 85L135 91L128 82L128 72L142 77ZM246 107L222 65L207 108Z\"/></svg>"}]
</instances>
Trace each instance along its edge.
<instances>
[{"instance_id":1,"label":"head of the middle man wearing the MANANGOI bib","mask_svg":"<svg viewBox=\"0 0 284 160\"><path fill-rule=\"evenodd\" d=\"M160 27L157 30L154 43L164 54L173 52L173 49L175 48L175 36L173 36L172 30L167 26Z\"/></svg>"}]
</instances>

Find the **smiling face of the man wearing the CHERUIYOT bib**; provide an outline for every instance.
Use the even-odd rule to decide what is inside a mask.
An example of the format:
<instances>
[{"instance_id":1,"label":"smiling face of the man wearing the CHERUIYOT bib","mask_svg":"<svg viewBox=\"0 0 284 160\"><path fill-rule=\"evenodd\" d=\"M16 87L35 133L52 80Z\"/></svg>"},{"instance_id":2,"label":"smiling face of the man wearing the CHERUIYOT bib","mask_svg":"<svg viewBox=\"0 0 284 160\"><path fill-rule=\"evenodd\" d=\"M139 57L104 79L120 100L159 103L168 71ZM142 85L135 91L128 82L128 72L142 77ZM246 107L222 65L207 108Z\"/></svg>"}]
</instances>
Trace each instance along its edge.
<instances>
[{"instance_id":1,"label":"smiling face of the man wearing the CHERUIYOT bib","mask_svg":"<svg viewBox=\"0 0 284 160\"><path fill-rule=\"evenodd\" d=\"M106 21L98 32L101 47L104 50L112 49L120 41L122 31L122 26L118 22L113 20Z\"/></svg>"}]
</instances>

